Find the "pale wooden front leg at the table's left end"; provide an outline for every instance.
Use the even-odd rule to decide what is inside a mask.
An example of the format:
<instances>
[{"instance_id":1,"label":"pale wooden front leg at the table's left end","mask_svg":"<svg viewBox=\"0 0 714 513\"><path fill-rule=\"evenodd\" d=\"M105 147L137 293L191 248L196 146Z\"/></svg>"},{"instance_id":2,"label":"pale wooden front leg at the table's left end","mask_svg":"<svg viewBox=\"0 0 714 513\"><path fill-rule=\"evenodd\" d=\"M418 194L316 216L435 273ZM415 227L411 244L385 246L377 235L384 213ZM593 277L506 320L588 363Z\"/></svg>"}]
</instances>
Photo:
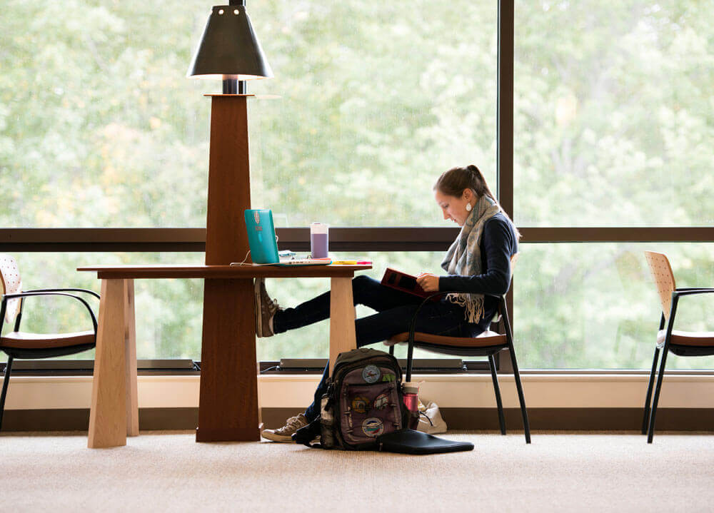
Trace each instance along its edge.
<instances>
[{"instance_id":1,"label":"pale wooden front leg at the table's left end","mask_svg":"<svg viewBox=\"0 0 714 513\"><path fill-rule=\"evenodd\" d=\"M126 445L124 280L101 280L87 446Z\"/></svg>"}]
</instances>

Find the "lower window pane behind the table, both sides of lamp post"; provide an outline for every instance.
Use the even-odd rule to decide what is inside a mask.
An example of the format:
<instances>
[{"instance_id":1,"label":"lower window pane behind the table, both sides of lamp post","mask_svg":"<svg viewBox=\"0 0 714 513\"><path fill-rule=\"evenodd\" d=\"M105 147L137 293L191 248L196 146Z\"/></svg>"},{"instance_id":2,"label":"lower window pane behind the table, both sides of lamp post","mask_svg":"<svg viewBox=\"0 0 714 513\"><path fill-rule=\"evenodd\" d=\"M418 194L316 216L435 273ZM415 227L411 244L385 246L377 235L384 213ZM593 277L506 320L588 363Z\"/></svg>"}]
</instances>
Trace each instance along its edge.
<instances>
[{"instance_id":1,"label":"lower window pane behind the table, both sides of lamp post","mask_svg":"<svg viewBox=\"0 0 714 513\"><path fill-rule=\"evenodd\" d=\"M347 253L331 254L334 258L351 257ZM99 292L96 273L78 273L77 267L97 262L106 265L203 263L202 253L16 253L14 257L19 262L25 289L62 288L71 283L72 286L96 292ZM408 273L421 270L438 273L441 253L361 253L361 257L372 260L373 270L365 274L378 280L389 265ZM329 289L327 278L268 280L268 292L283 307L295 306ZM139 360L201 360L201 280L136 280L134 294L136 356ZM96 300L89 298L88 301L96 312ZM23 311L23 330L67 332L91 329L91 320L84 307L69 298L30 298L26 300ZM371 310L358 306L357 313L360 316L370 315ZM11 329L11 325L6 325L4 332ZM259 338L258 360L326 357L328 339L327 322L318 322L271 338ZM397 355L401 357L403 352L398 348ZM421 352L416 354L419 357ZM81 353L65 359L83 360L89 357L90 353Z\"/></svg>"}]
</instances>

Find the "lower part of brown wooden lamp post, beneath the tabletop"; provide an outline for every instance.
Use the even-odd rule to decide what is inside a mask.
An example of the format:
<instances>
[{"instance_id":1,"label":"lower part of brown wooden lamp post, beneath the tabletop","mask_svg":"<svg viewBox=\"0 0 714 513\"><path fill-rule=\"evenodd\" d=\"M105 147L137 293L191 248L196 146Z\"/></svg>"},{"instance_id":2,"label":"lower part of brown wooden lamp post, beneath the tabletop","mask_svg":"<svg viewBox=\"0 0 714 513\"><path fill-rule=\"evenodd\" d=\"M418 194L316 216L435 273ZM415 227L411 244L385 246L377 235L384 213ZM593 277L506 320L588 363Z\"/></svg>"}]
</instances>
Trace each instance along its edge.
<instances>
[{"instance_id":1,"label":"lower part of brown wooden lamp post, beneath the tabletop","mask_svg":"<svg viewBox=\"0 0 714 513\"><path fill-rule=\"evenodd\" d=\"M204 281L196 442L260 440L253 308L252 278Z\"/></svg>"}]
</instances>

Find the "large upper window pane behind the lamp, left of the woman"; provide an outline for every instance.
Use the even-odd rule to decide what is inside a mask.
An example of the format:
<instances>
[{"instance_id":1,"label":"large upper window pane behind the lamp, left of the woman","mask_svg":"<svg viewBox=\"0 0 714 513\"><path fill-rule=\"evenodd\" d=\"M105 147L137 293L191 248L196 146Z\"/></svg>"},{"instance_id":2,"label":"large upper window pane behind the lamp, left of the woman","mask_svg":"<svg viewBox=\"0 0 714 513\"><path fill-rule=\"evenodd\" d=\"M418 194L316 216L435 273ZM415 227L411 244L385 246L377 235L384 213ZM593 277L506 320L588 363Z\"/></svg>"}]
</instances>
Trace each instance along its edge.
<instances>
[{"instance_id":1,"label":"large upper window pane behind the lamp, left of the woman","mask_svg":"<svg viewBox=\"0 0 714 513\"><path fill-rule=\"evenodd\" d=\"M4 227L205 225L211 2L4 4ZM496 177L496 5L248 1L275 78L251 81L253 204L279 225L434 225L431 185Z\"/></svg>"}]
</instances>

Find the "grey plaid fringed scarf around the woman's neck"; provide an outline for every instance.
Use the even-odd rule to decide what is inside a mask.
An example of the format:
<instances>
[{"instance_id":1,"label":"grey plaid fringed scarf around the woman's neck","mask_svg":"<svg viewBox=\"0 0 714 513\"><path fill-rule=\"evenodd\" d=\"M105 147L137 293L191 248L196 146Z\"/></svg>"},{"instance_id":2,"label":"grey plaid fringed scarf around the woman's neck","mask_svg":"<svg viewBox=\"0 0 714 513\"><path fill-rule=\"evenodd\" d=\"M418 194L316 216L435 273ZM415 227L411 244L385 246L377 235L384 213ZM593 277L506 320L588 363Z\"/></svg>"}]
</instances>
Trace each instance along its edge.
<instances>
[{"instance_id":1,"label":"grey plaid fringed scarf around the woman's neck","mask_svg":"<svg viewBox=\"0 0 714 513\"><path fill-rule=\"evenodd\" d=\"M481 269L481 235L483 225L501 209L487 195L478 198L476 206L466 218L456 240L448 248L441 268L451 275L473 276ZM483 317L483 294L451 293L446 296L451 303L466 308L466 320L478 322Z\"/></svg>"}]
</instances>

